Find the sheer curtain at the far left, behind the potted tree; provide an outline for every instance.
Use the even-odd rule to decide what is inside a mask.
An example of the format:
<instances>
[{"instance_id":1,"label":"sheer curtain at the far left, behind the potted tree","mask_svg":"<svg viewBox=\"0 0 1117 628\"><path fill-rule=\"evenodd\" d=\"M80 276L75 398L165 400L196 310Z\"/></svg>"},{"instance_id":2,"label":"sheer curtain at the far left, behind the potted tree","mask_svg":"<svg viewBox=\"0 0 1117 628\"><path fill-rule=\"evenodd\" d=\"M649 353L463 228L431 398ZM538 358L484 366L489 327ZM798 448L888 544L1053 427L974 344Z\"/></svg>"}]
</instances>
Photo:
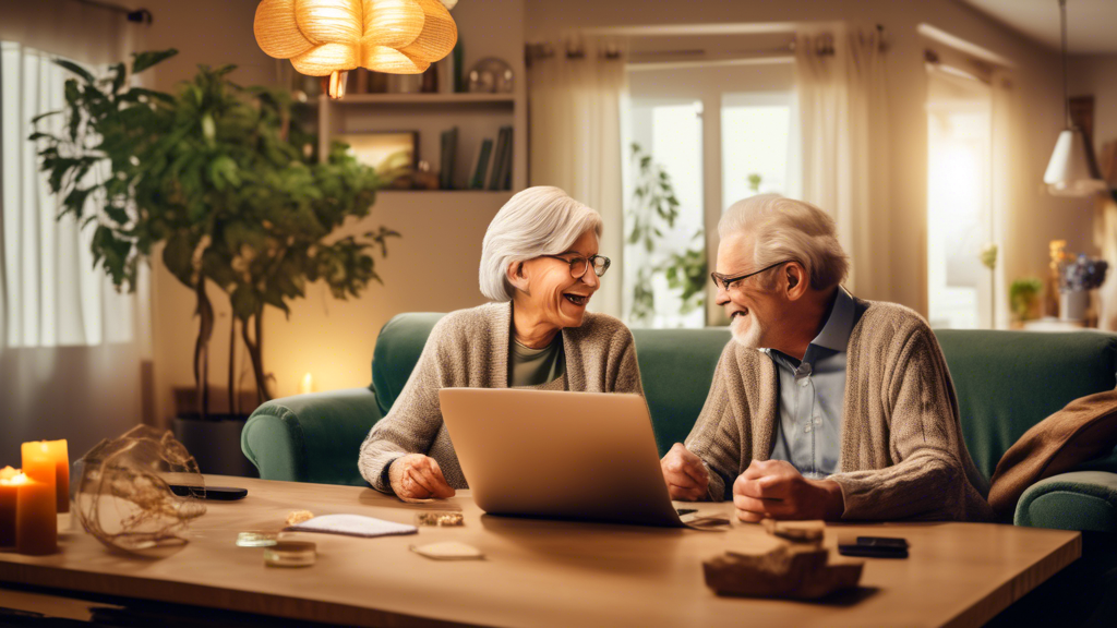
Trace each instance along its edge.
<instances>
[{"instance_id":1,"label":"sheer curtain at the far left, behind the potted tree","mask_svg":"<svg viewBox=\"0 0 1117 628\"><path fill-rule=\"evenodd\" d=\"M146 282L116 293L93 267L95 225L56 219L30 121L65 104L70 75L52 59L98 74L127 58L143 27L65 0L0 0L0 457L18 460L19 443L42 438L66 438L77 457L140 422Z\"/></svg>"}]
</instances>

